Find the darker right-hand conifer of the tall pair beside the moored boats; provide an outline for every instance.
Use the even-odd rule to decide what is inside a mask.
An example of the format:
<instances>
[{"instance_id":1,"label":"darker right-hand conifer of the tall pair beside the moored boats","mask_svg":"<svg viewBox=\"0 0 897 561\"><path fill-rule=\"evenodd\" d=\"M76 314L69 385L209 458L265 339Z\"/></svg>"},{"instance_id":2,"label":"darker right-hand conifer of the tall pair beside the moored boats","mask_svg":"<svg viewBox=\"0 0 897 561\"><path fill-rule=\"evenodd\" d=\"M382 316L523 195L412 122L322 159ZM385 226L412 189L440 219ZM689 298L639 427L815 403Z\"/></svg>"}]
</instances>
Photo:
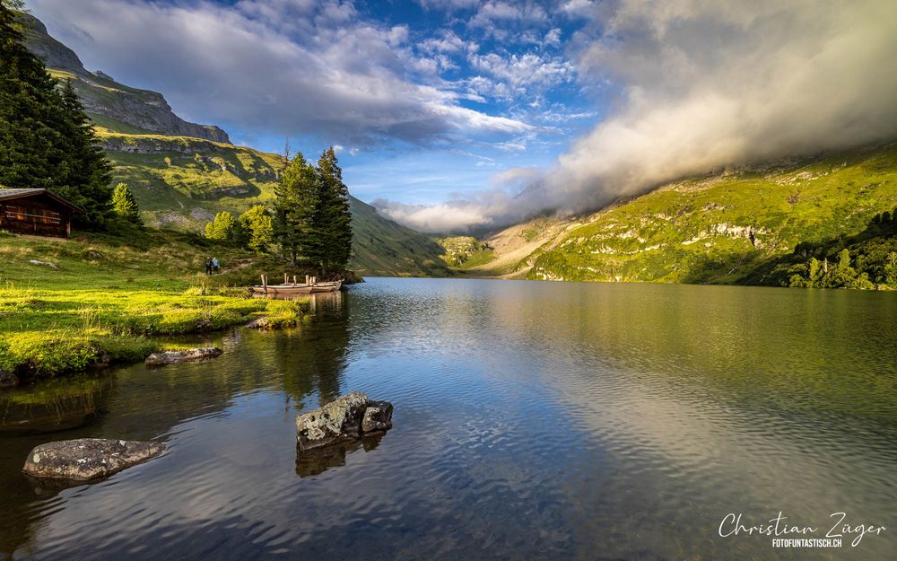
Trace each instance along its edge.
<instances>
[{"instance_id":1,"label":"darker right-hand conifer of the tall pair beside the moored boats","mask_svg":"<svg viewBox=\"0 0 897 561\"><path fill-rule=\"evenodd\" d=\"M349 190L343 183L333 146L318 159L318 206L314 229L318 235L315 257L323 273L344 269L352 257L352 214L349 212Z\"/></svg>"}]
</instances>

